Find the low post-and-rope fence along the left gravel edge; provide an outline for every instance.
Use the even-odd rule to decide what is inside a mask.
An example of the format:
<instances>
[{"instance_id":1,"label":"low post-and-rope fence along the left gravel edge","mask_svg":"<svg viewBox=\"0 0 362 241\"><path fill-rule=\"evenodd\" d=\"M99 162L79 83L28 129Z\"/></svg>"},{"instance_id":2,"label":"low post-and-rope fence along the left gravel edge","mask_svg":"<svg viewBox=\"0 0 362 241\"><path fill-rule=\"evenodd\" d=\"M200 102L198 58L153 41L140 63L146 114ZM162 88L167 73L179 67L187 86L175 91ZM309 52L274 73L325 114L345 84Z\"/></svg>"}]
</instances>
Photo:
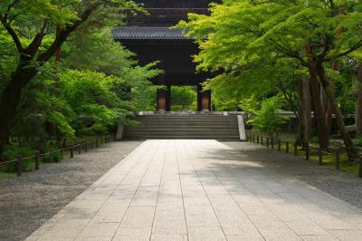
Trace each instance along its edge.
<instances>
[{"instance_id":1,"label":"low post-and-rope fence along the left gravel edge","mask_svg":"<svg viewBox=\"0 0 362 241\"><path fill-rule=\"evenodd\" d=\"M84 141L70 147L65 147L61 149L52 149L46 153L40 153L39 151L35 152L33 156L30 157L22 157L18 156L16 159L8 160L4 162L0 162L0 167L15 165L16 176L20 177L23 174L23 163L24 160L33 159L35 169L40 169L40 160L43 157L48 157L49 162L59 162L61 159L64 159L65 153L68 151L70 154L70 158L74 158L74 151L78 150L78 155L81 155L81 152L88 152L89 149L99 148L102 144L110 143L115 140L114 135L107 135L105 137L101 137L95 140ZM55 154L60 154L60 159L55 158Z\"/></svg>"}]
</instances>

